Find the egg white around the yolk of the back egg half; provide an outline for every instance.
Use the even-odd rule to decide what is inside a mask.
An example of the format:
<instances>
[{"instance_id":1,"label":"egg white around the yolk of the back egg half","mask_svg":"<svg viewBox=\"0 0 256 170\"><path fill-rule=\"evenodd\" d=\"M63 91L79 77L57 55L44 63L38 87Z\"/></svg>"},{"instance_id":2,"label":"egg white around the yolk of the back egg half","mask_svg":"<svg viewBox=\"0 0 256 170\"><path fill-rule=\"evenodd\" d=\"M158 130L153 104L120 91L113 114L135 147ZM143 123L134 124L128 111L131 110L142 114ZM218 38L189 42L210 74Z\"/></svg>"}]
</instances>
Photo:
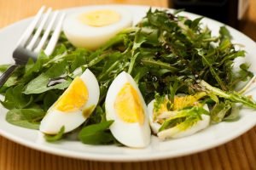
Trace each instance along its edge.
<instances>
[{"instance_id":1,"label":"egg white around the yolk of the back egg half","mask_svg":"<svg viewBox=\"0 0 256 170\"><path fill-rule=\"evenodd\" d=\"M109 9L120 14L120 20L108 26L88 26L79 20L79 16L95 10ZM96 49L115 36L119 31L132 25L132 16L125 8L101 7L87 8L67 15L63 22L63 31L71 43L79 48Z\"/></svg>"}]
</instances>

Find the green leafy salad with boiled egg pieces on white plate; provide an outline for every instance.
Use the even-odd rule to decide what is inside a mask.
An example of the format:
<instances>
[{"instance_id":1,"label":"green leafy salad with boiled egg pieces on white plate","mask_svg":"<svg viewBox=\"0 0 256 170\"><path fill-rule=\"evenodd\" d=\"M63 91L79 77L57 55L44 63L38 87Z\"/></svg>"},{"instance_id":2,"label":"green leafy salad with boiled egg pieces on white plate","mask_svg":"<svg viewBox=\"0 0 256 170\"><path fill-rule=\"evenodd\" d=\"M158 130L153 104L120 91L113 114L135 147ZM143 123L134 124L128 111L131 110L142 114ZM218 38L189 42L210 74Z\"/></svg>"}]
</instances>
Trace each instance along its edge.
<instances>
[{"instance_id":1,"label":"green leafy salad with boiled egg pieces on white plate","mask_svg":"<svg viewBox=\"0 0 256 170\"><path fill-rule=\"evenodd\" d=\"M249 65L234 71L246 52L224 26L213 37L202 18L179 12L149 9L131 26L129 14L116 8L87 11L79 25L95 27L90 33L73 33L76 14L67 17L54 53L42 51L0 89L6 121L38 129L49 142L141 148L152 134L181 138L238 120L241 105L256 109L244 95L255 79ZM106 14L111 20L102 19ZM237 90L240 82L246 85Z\"/></svg>"}]
</instances>

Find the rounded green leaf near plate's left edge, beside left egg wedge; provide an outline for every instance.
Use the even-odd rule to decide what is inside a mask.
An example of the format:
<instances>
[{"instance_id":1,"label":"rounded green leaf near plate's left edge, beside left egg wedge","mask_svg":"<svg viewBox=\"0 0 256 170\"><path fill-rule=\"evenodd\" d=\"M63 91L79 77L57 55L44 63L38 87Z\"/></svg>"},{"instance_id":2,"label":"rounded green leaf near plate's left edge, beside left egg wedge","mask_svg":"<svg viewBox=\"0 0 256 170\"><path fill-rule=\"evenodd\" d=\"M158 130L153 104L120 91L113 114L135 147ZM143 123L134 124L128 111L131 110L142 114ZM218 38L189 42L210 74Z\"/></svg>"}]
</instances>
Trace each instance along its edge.
<instances>
[{"instance_id":1,"label":"rounded green leaf near plate's left edge, beside left egg wedge","mask_svg":"<svg viewBox=\"0 0 256 170\"><path fill-rule=\"evenodd\" d=\"M41 109L13 109L7 112L6 121L19 127L39 129L45 112Z\"/></svg>"}]
</instances>

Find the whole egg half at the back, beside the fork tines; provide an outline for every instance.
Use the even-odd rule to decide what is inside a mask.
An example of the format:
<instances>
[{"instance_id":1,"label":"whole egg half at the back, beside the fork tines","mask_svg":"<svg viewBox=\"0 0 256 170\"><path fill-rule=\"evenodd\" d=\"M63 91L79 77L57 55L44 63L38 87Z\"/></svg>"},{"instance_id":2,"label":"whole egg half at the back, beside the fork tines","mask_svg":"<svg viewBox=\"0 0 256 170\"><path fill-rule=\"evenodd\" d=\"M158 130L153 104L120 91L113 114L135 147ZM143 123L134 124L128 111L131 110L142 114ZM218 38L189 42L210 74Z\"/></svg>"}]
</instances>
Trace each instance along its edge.
<instances>
[{"instance_id":1,"label":"whole egg half at the back, beside the fork tines","mask_svg":"<svg viewBox=\"0 0 256 170\"><path fill-rule=\"evenodd\" d=\"M125 8L87 8L67 15L63 31L74 46L96 49L131 24L131 14Z\"/></svg>"}]
</instances>

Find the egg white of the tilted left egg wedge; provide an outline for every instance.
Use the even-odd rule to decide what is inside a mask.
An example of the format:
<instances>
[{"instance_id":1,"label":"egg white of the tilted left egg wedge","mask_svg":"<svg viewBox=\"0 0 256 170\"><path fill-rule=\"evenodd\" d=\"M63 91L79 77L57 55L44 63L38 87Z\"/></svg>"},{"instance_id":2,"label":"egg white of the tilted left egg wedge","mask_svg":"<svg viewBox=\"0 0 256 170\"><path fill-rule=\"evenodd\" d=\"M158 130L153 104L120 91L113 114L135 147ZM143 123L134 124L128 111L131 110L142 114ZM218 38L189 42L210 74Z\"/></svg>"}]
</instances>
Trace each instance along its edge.
<instances>
[{"instance_id":1,"label":"egg white of the tilted left egg wedge","mask_svg":"<svg viewBox=\"0 0 256 170\"><path fill-rule=\"evenodd\" d=\"M55 108L55 105L52 105L40 124L39 130L41 132L55 134L60 131L62 126L65 127L65 133L70 132L86 120L86 117L83 116L84 110L92 106L96 107L100 96L100 88L96 77L89 69L86 69L80 78L88 90L87 102L79 111L70 112L59 111Z\"/></svg>"}]
</instances>

